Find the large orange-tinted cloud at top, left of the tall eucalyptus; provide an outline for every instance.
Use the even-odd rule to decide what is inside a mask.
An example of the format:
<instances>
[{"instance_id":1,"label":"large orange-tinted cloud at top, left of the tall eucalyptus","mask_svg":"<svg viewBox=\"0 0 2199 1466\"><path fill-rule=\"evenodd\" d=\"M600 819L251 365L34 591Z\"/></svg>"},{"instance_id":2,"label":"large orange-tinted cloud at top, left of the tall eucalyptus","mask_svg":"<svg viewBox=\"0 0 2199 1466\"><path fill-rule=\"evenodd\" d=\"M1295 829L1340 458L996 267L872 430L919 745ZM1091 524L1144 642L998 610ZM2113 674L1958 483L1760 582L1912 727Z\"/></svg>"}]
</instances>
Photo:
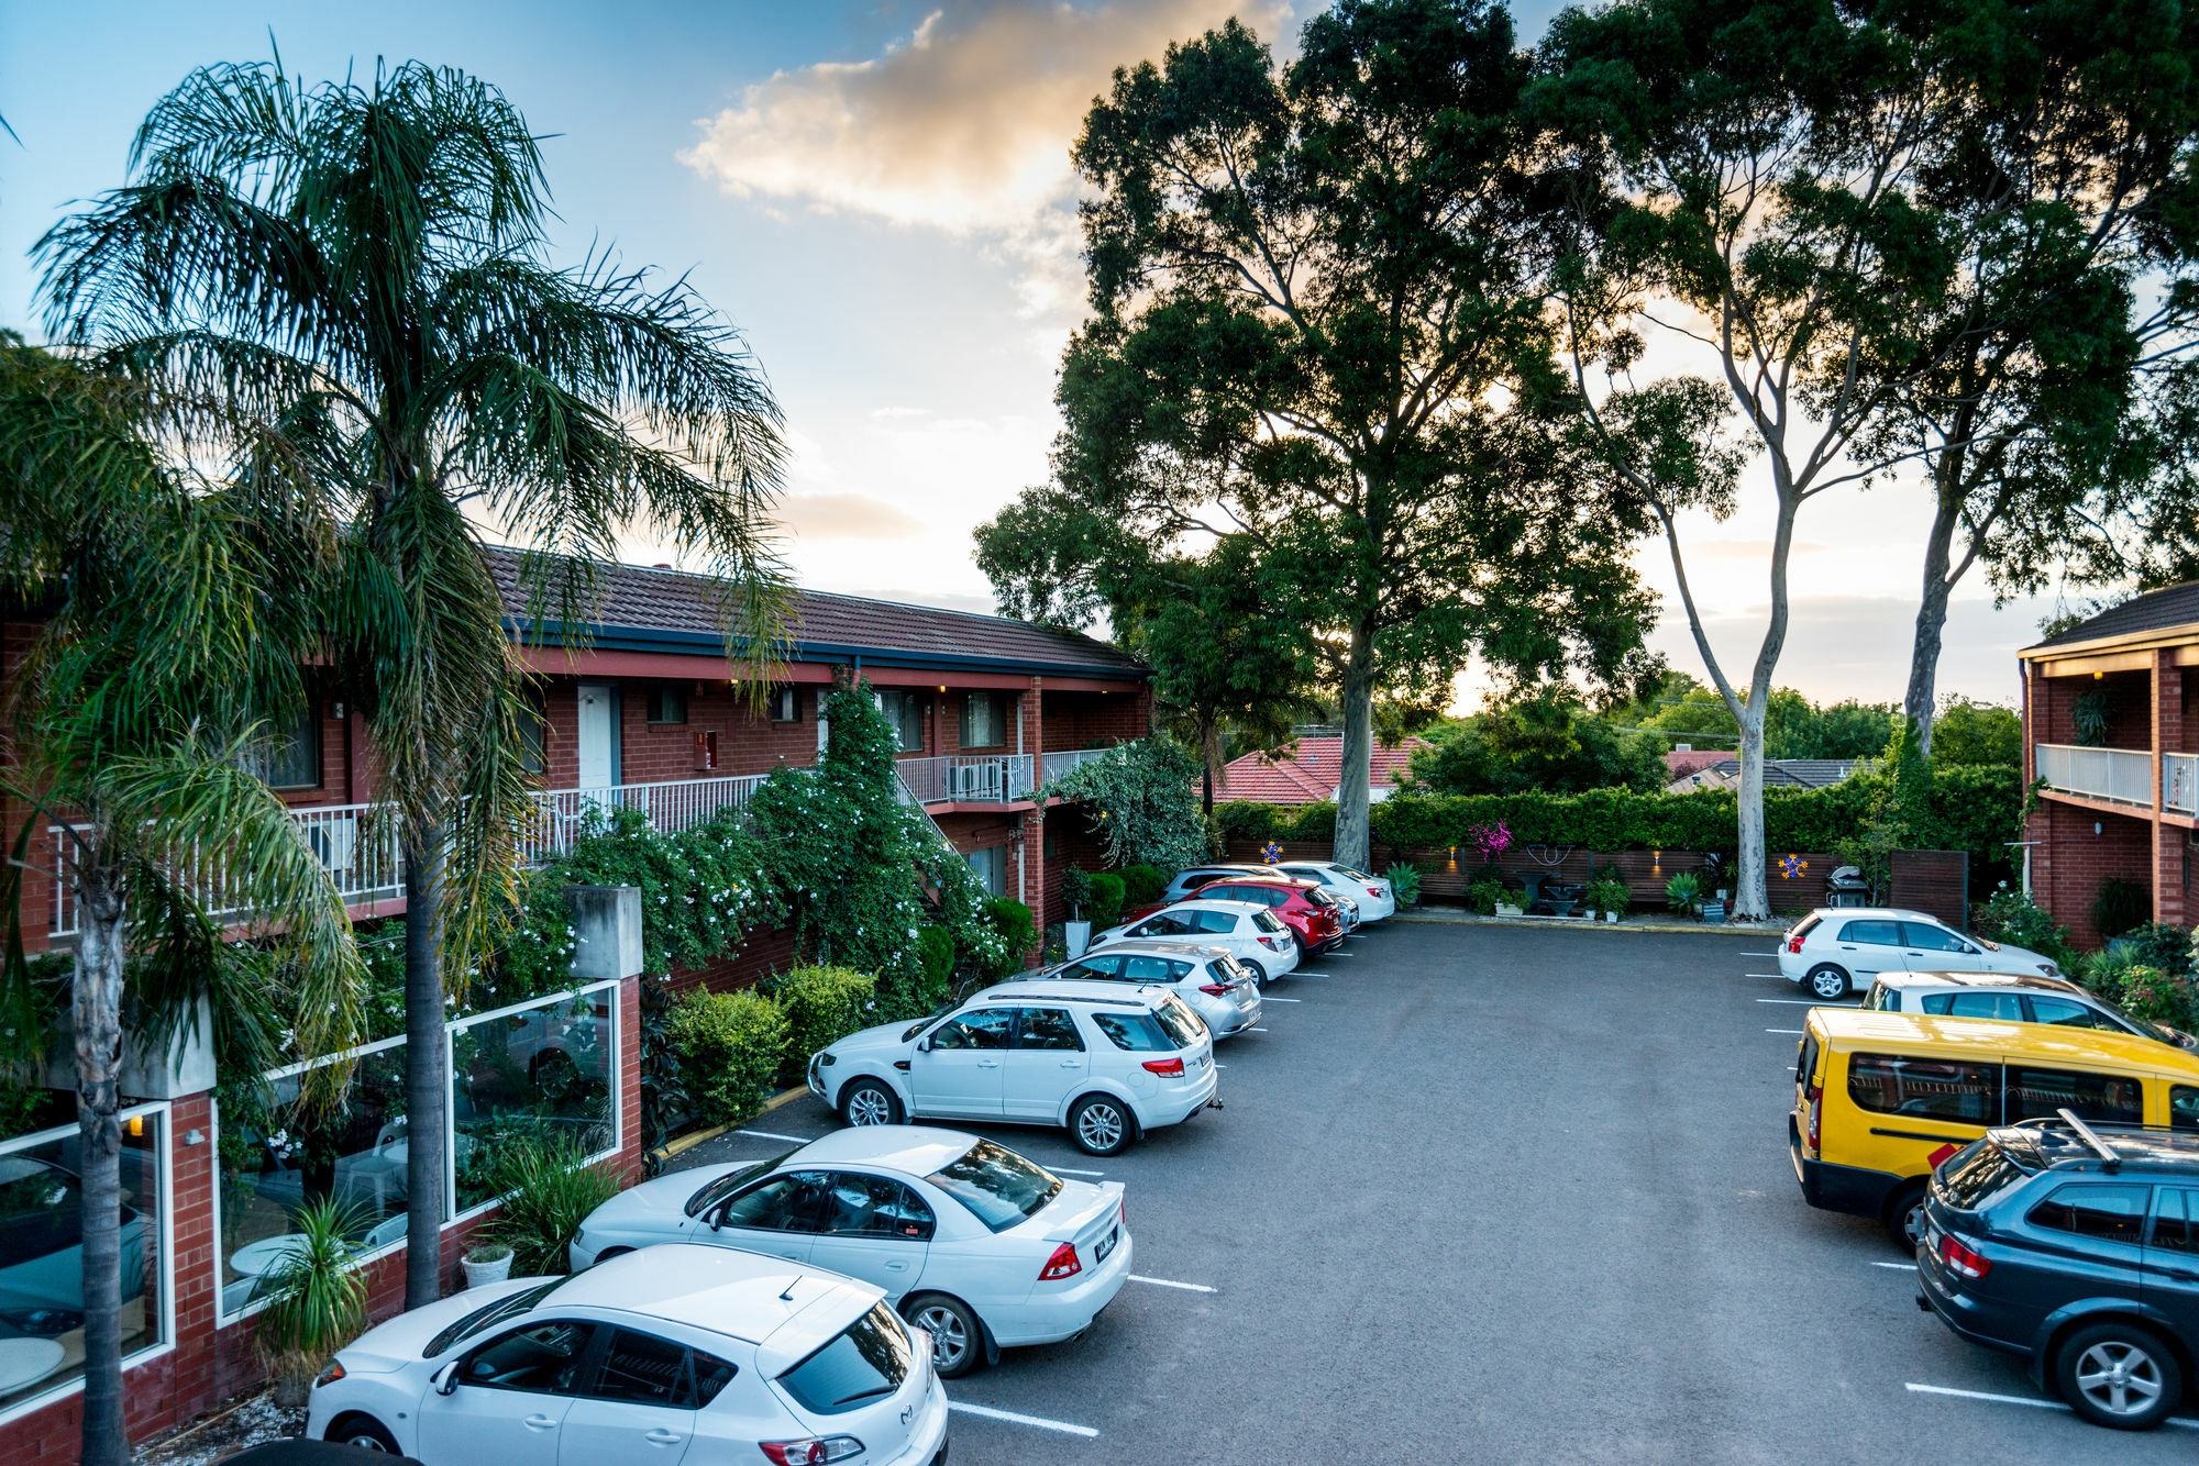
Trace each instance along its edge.
<instances>
[{"instance_id":1,"label":"large orange-tinted cloud at top, left of the tall eucalyptus","mask_svg":"<svg viewBox=\"0 0 2199 1466\"><path fill-rule=\"evenodd\" d=\"M1284 0L959 0L866 62L750 86L679 160L739 198L800 200L972 237L1018 270L1025 310L1082 295L1069 145L1117 66L1238 15L1284 37Z\"/></svg>"}]
</instances>

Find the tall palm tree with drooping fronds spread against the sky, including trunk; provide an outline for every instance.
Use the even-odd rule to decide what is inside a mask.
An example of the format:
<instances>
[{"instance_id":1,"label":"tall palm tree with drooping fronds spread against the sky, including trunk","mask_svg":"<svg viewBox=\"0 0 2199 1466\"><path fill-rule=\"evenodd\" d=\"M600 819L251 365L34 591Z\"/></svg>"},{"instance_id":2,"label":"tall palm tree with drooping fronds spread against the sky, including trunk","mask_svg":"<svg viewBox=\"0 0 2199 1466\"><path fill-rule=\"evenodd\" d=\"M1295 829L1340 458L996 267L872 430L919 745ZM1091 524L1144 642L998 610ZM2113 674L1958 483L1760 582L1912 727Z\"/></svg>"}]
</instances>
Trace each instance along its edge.
<instances>
[{"instance_id":1,"label":"tall palm tree with drooping fronds spread against the sky, including trunk","mask_svg":"<svg viewBox=\"0 0 2199 1466\"><path fill-rule=\"evenodd\" d=\"M281 424L345 499L325 657L402 820L418 1306L440 1290L444 974L462 982L495 934L530 813L482 523L530 549L523 620L552 631L583 624L620 532L679 543L728 587L728 653L763 673L785 607L778 407L684 279L545 264L537 138L464 73L306 88L279 59L211 66L154 105L130 167L40 242L48 325Z\"/></svg>"}]
</instances>

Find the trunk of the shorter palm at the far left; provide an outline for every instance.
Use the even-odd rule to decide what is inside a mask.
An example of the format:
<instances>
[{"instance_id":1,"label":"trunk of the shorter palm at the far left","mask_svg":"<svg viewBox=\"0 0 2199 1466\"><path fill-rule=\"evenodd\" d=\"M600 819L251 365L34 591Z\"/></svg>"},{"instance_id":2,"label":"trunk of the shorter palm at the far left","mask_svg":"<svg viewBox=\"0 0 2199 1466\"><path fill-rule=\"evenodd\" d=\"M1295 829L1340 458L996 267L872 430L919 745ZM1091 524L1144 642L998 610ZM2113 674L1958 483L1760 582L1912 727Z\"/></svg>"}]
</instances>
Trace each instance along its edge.
<instances>
[{"instance_id":1,"label":"trunk of the shorter palm at the far left","mask_svg":"<svg viewBox=\"0 0 2199 1466\"><path fill-rule=\"evenodd\" d=\"M123 1048L123 895L88 875L77 884L77 1134L84 1185L84 1453L81 1466L128 1466L123 1420L123 1132L117 1077Z\"/></svg>"}]
</instances>

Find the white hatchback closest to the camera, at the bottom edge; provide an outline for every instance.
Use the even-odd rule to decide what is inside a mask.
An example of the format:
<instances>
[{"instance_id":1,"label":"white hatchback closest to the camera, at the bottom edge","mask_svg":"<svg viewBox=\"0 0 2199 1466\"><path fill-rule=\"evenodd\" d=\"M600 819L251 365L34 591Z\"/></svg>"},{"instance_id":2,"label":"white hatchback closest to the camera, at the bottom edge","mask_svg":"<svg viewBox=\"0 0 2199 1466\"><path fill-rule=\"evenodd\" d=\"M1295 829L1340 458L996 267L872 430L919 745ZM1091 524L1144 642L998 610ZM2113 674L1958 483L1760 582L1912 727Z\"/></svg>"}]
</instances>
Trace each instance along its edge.
<instances>
[{"instance_id":1,"label":"white hatchback closest to the camera, at the bottom edge","mask_svg":"<svg viewBox=\"0 0 2199 1466\"><path fill-rule=\"evenodd\" d=\"M719 1246L653 1246L398 1314L336 1352L306 1435L427 1466L946 1455L930 1341L877 1288Z\"/></svg>"}]
</instances>

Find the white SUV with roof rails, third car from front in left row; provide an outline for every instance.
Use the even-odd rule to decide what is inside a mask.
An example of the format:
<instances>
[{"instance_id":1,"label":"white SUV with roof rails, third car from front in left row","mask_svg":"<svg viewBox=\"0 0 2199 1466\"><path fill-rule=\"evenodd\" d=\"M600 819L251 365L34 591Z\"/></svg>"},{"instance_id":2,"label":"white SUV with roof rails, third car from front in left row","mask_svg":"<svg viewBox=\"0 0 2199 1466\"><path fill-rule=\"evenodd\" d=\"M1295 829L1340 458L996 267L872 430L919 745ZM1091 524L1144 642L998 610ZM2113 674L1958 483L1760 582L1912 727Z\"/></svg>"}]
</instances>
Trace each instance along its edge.
<instances>
[{"instance_id":1,"label":"white SUV with roof rails, third car from front in left row","mask_svg":"<svg viewBox=\"0 0 2199 1466\"><path fill-rule=\"evenodd\" d=\"M809 1055L809 1090L849 1125L917 1114L1067 1125L1093 1156L1214 1101L1214 1035L1165 987L1001 982L937 1018Z\"/></svg>"}]
</instances>

